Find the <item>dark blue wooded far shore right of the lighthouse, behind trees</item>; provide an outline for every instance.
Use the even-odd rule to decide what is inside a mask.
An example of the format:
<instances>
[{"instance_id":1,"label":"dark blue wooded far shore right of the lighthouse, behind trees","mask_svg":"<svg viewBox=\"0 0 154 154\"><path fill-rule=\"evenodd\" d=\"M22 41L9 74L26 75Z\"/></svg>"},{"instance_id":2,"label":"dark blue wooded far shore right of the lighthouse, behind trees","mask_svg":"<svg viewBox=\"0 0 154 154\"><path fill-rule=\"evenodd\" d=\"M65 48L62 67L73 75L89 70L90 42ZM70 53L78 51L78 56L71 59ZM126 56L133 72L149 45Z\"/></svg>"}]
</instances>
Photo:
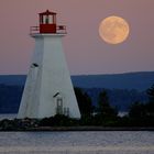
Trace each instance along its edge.
<instances>
[{"instance_id":1,"label":"dark blue wooded far shore right of the lighthouse, behind trees","mask_svg":"<svg viewBox=\"0 0 154 154\"><path fill-rule=\"evenodd\" d=\"M106 91L110 105L112 107L116 107L118 111L129 111L131 105L135 101L140 102L147 102L148 96L146 94L146 90L139 91L136 89L102 89L102 88L89 88L89 89L82 89L87 95L91 98L92 105L97 106L98 103L98 97L101 91Z\"/></svg>"}]
</instances>

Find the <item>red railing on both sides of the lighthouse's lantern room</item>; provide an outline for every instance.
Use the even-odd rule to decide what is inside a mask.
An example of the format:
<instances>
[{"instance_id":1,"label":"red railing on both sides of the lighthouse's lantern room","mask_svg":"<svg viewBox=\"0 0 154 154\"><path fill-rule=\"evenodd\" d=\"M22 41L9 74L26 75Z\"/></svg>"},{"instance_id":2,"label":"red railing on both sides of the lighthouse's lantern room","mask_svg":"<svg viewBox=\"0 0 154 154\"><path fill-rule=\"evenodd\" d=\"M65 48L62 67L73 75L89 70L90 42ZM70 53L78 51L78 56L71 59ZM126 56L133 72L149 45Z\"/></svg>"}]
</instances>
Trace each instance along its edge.
<instances>
[{"instance_id":1,"label":"red railing on both sides of the lighthouse's lantern room","mask_svg":"<svg viewBox=\"0 0 154 154\"><path fill-rule=\"evenodd\" d=\"M66 25L57 25L56 26L56 33L53 34L66 34ZM30 34L40 34L40 26L31 26L30 28ZM50 34L50 33L48 33Z\"/></svg>"}]
</instances>

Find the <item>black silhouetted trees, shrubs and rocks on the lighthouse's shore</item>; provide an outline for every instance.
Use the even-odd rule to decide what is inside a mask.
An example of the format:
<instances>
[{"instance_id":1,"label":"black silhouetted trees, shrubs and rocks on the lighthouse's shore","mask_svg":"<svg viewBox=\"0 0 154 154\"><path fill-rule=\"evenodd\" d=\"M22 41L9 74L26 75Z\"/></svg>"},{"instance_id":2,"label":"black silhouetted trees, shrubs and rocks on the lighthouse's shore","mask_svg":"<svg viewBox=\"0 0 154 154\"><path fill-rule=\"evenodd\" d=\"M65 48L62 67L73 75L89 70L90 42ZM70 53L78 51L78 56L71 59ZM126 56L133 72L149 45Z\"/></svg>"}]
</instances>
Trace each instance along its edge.
<instances>
[{"instance_id":1,"label":"black silhouetted trees, shrubs and rocks on the lighthouse's shore","mask_svg":"<svg viewBox=\"0 0 154 154\"><path fill-rule=\"evenodd\" d=\"M19 89L22 90L22 89ZM14 119L0 121L0 130L31 130L42 127L111 127L111 128L153 128L154 127L154 85L146 90L147 102L135 101L124 117L118 116L118 109L110 105L106 90L98 96L94 106L87 92L75 88L81 119L72 119L63 114L44 119Z\"/></svg>"}]
</instances>

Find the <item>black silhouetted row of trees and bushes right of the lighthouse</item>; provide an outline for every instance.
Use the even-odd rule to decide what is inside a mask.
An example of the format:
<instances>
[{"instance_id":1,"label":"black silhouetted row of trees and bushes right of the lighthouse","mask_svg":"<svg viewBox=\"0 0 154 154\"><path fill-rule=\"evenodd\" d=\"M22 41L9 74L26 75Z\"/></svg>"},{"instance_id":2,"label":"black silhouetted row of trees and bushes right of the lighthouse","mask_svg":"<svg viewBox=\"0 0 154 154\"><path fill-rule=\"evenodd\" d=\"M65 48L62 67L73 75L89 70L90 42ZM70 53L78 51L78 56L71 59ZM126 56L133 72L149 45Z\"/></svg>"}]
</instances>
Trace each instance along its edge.
<instances>
[{"instance_id":1,"label":"black silhouetted row of trees and bushes right of the lighthouse","mask_svg":"<svg viewBox=\"0 0 154 154\"><path fill-rule=\"evenodd\" d=\"M154 127L154 85L146 90L148 100L144 103L142 101L132 102L128 116L124 117L118 116L118 109L110 105L106 90L99 94L96 107L92 106L90 97L81 89L77 88L75 91L77 98L80 98L78 101L80 101L79 108L84 124L102 127ZM88 106L88 112L85 110L86 106Z\"/></svg>"}]
</instances>

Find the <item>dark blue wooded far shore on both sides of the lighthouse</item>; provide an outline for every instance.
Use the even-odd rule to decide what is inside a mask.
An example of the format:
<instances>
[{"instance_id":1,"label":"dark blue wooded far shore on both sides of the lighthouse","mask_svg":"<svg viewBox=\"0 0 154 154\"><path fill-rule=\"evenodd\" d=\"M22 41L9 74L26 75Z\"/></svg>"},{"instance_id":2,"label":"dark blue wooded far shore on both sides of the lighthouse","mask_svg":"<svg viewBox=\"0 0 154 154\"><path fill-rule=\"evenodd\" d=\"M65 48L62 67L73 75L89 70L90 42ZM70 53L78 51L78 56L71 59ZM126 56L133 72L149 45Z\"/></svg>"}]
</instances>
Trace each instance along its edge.
<instances>
[{"instance_id":1,"label":"dark blue wooded far shore on both sides of the lighthouse","mask_svg":"<svg viewBox=\"0 0 154 154\"><path fill-rule=\"evenodd\" d=\"M102 89L102 88L90 88L90 89L78 89L78 96L80 92L85 92L89 98L94 107L98 103L98 97L101 91L107 91L109 102L112 107L116 107L118 111L129 110L132 102L147 102L148 97L145 91L138 91L135 89ZM0 113L16 113L19 110L23 86L21 85L0 85ZM77 97L78 97L77 96ZM80 103L81 97L78 97ZM86 108L87 110L88 107Z\"/></svg>"}]
</instances>

